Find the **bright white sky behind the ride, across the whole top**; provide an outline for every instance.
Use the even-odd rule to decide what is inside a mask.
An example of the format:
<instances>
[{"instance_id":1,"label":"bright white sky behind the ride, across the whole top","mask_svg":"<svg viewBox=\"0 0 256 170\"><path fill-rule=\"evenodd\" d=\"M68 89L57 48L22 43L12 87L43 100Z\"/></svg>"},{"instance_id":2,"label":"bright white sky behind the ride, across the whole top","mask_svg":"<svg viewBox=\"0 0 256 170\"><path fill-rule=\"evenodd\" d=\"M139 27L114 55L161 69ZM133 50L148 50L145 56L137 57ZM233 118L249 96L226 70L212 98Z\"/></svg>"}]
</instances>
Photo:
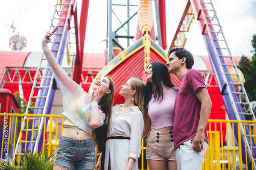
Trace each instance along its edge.
<instances>
[{"instance_id":1,"label":"bright white sky behind the ride, across the whole top","mask_svg":"<svg viewBox=\"0 0 256 170\"><path fill-rule=\"evenodd\" d=\"M13 33L8 24L12 24L14 20L14 26L19 31L19 35L27 38L27 47L23 51L41 52L41 40L50 28L50 20L53 16L56 1L1 0L0 2L2 3L0 5L0 51L11 51L9 38ZM103 53L106 48L106 42L101 42L101 40L106 38L107 2L107 0L90 1L84 53ZM113 4L124 4L125 2L126 0L113 0ZM130 0L131 5L138 5L138 2L139 0ZM167 46L169 46L187 1L166 0L165 2ZM232 55L241 56L244 54L245 56L252 56L250 41L252 35L256 34L256 0L212 0L212 2L214 3ZM81 0L77 0L78 15L80 8ZM125 8L113 7L121 22L126 20ZM130 15L137 11L137 9L138 7L131 7ZM136 23L137 15L131 20L131 35L135 35ZM118 20L116 17L113 17L113 30L117 27L119 27ZM124 29L118 32L120 35L124 33ZM194 55L208 55L201 35L201 29L196 19L193 20L186 37L185 48ZM120 43L126 47L126 41L120 40Z\"/></svg>"}]
</instances>

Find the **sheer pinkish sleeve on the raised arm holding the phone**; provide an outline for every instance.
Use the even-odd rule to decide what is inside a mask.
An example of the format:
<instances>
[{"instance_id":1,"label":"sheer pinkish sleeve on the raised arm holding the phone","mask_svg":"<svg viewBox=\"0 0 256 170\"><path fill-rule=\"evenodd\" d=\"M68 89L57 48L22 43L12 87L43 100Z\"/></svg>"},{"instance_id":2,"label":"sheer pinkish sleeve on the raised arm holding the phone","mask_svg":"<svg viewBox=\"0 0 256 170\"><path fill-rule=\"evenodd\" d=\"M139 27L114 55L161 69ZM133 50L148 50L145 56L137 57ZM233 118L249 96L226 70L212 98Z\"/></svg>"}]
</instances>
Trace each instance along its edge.
<instances>
[{"instance_id":1,"label":"sheer pinkish sleeve on the raised arm holding the phone","mask_svg":"<svg viewBox=\"0 0 256 170\"><path fill-rule=\"evenodd\" d=\"M42 48L47 62L52 70L54 78L59 85L62 95L74 94L84 92L82 87L74 82L67 74L67 72L59 65L56 58L46 45Z\"/></svg>"}]
</instances>

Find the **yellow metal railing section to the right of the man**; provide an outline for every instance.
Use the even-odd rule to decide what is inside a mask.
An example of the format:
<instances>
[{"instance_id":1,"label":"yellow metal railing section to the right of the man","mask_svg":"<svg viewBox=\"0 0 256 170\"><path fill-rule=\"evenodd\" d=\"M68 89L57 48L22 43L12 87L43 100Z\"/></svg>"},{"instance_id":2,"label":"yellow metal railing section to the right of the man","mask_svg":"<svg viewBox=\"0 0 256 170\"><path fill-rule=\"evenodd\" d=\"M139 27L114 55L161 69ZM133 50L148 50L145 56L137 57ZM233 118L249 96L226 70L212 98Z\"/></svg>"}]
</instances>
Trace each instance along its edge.
<instances>
[{"instance_id":1,"label":"yellow metal railing section to the right of the man","mask_svg":"<svg viewBox=\"0 0 256 170\"><path fill-rule=\"evenodd\" d=\"M234 128L237 126L237 131ZM208 150L204 157L202 169L243 169L245 168L242 160L242 150L247 152L247 148L242 148L241 139L245 140L246 136L241 136L241 128L249 129L250 143L255 143L256 136L256 122L252 120L214 120L208 121ZM236 142L235 134L238 134ZM247 138L248 139L248 138ZM219 142L218 142L219 141ZM252 144L250 145L252 150ZM252 158L253 156L250 155ZM247 154L245 154L246 169L248 168ZM253 169L253 162L251 167Z\"/></svg>"}]
</instances>

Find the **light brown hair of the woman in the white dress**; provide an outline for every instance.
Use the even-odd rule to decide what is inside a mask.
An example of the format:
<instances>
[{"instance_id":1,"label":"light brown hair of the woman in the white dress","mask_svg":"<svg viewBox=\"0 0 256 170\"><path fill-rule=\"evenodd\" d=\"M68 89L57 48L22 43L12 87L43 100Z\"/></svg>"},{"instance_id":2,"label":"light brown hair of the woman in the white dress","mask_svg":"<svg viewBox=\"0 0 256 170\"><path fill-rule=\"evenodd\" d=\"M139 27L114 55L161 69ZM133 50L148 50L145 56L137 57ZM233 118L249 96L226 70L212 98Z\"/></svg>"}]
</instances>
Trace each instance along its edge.
<instances>
[{"instance_id":1,"label":"light brown hair of the woman in the white dress","mask_svg":"<svg viewBox=\"0 0 256 170\"><path fill-rule=\"evenodd\" d=\"M136 78L131 78L131 82L132 82L132 89L136 91L136 93L134 94L133 98L134 98L134 103L136 106L139 107L140 111L143 113L144 115L144 93L145 93L145 83L142 82L139 79Z\"/></svg>"}]
</instances>

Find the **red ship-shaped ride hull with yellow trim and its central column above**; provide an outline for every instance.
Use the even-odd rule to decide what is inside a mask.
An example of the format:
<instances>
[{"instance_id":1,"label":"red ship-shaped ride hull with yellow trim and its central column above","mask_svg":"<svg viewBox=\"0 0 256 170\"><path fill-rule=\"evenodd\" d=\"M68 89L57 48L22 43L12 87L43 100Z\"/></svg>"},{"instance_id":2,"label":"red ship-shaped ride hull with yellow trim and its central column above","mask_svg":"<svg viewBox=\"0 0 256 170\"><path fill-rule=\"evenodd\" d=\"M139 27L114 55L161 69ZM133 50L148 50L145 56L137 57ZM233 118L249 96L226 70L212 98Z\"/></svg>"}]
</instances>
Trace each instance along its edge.
<instances>
[{"instance_id":1,"label":"red ship-shaped ride hull with yellow trim and its central column above","mask_svg":"<svg viewBox=\"0 0 256 170\"><path fill-rule=\"evenodd\" d=\"M114 104L124 102L119 95L121 85L130 78L138 78L146 83L144 70L150 62L166 63L167 54L156 41L152 1L140 1L138 12L138 26L136 31L136 42L123 50L119 55L112 59L97 75L96 79L108 75L112 78L115 85ZM165 8L163 1L158 1L159 8ZM159 10L160 11L160 10ZM161 43L166 46L165 10L161 10L161 30L165 37ZM175 75L171 74L171 79L176 86L180 81Z\"/></svg>"}]
</instances>

